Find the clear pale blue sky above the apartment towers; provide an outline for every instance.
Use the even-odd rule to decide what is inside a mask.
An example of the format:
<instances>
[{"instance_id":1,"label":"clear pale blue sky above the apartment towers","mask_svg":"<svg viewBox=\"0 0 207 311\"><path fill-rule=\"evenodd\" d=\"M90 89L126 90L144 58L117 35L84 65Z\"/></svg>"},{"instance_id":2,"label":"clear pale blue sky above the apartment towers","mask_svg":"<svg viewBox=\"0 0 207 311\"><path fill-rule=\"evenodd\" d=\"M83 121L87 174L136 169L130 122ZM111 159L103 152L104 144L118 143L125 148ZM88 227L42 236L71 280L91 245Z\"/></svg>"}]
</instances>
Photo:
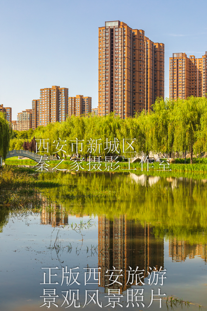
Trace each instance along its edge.
<instances>
[{"instance_id":1,"label":"clear pale blue sky above the apartment towers","mask_svg":"<svg viewBox=\"0 0 207 311\"><path fill-rule=\"evenodd\" d=\"M0 0L0 104L16 120L40 88L57 85L97 107L98 27L117 20L164 43L168 97L172 53L207 50L206 10L206 0Z\"/></svg>"}]
</instances>

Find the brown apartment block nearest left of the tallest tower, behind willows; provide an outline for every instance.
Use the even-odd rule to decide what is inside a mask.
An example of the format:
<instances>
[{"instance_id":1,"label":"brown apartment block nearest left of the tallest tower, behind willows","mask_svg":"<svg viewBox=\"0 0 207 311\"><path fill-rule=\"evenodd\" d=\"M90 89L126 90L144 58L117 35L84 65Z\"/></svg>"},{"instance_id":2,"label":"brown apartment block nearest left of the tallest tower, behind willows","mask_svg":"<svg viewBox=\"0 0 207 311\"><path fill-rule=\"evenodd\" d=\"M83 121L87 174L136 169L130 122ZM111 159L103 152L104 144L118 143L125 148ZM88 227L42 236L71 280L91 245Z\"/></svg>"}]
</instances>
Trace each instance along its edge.
<instances>
[{"instance_id":1,"label":"brown apartment block nearest left of the tallest tower, behind willows","mask_svg":"<svg viewBox=\"0 0 207 311\"><path fill-rule=\"evenodd\" d=\"M76 97L68 98L68 115L79 116L79 115L87 115L91 113L92 106L92 98L83 95L76 95Z\"/></svg>"}]
</instances>

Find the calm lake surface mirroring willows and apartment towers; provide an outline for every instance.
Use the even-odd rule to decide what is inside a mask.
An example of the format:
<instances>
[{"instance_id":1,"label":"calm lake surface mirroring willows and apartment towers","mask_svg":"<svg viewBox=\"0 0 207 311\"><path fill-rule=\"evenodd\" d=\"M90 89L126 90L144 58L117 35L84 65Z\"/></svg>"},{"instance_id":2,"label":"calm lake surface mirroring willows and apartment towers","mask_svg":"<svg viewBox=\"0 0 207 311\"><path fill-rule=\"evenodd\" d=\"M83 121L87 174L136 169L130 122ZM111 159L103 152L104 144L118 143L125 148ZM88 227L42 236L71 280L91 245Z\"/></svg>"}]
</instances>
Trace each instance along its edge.
<instances>
[{"instance_id":1,"label":"calm lake surface mirroring willows and apartment towers","mask_svg":"<svg viewBox=\"0 0 207 311\"><path fill-rule=\"evenodd\" d=\"M57 182L38 194L41 210L0 210L1 310L207 307L205 178L38 178Z\"/></svg>"}]
</instances>

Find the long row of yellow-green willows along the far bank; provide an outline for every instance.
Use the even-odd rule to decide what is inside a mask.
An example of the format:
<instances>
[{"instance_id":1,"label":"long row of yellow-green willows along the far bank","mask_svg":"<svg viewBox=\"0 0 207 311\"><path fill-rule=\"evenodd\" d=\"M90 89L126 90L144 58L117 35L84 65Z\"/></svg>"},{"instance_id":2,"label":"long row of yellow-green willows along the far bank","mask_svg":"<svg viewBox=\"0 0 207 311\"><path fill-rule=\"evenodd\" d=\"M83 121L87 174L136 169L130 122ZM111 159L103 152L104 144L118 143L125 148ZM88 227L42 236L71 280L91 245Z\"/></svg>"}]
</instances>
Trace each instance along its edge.
<instances>
[{"instance_id":1,"label":"long row of yellow-green willows along the far bank","mask_svg":"<svg viewBox=\"0 0 207 311\"><path fill-rule=\"evenodd\" d=\"M81 150L78 153L81 155L87 154L91 139L94 141L101 139L97 142L102 143L100 153L97 146L93 156L117 154L116 151L104 150L107 139L108 142L112 142L117 138L119 154L122 154L123 138L130 138L135 139L132 146L138 154L142 152L149 154L153 151L171 156L172 152L187 151L191 155L192 164L193 152L200 154L207 151L207 99L193 96L187 100L176 101L160 98L156 100L153 111L149 114L145 114L143 110L141 114L127 119L120 119L114 114L105 117L72 116L62 123L50 123L46 127L38 127L30 134L36 139L49 139L49 154L57 151L56 145L59 138L61 141L66 140L65 143L59 143L59 145L66 144L62 148L66 154L76 153L71 149L71 141L77 138L78 150ZM81 148L82 140L84 142ZM23 138L14 138L10 142L10 150L18 149L18 144L22 145L23 142ZM132 149L129 148L128 151Z\"/></svg>"}]
</instances>

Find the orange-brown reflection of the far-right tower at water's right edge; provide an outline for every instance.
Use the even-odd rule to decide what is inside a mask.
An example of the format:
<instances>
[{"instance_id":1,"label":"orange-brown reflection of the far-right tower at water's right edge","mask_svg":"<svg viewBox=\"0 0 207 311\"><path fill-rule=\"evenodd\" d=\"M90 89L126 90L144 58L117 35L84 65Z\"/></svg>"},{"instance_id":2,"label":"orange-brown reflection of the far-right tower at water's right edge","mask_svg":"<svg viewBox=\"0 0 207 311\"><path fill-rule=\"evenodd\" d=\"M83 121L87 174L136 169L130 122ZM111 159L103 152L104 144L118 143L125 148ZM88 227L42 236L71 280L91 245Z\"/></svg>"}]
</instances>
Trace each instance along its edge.
<instances>
[{"instance_id":1,"label":"orange-brown reflection of the far-right tower at water's right edge","mask_svg":"<svg viewBox=\"0 0 207 311\"><path fill-rule=\"evenodd\" d=\"M187 257L192 259L195 256L201 257L207 264L207 244L190 244L177 238L169 239L169 257L172 257L172 261L181 262Z\"/></svg>"}]
</instances>

